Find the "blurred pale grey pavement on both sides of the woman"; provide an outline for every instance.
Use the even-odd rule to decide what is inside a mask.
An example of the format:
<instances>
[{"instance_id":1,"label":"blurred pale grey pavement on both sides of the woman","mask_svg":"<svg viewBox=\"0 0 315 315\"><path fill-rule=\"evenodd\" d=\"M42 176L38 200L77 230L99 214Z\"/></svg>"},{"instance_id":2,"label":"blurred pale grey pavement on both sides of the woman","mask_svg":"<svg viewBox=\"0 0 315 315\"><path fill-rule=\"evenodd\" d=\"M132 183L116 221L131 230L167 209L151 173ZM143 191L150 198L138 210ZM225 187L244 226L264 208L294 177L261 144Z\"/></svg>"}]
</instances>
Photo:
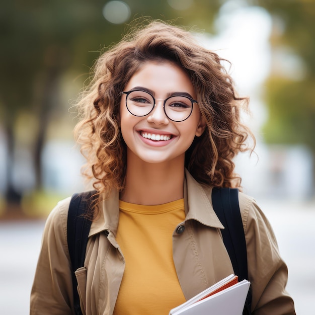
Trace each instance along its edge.
<instances>
[{"instance_id":1,"label":"blurred pale grey pavement on both sides of the woman","mask_svg":"<svg viewBox=\"0 0 315 315\"><path fill-rule=\"evenodd\" d=\"M277 236L289 268L288 292L296 313L313 313L315 298L315 201L264 201L258 204ZM0 221L0 309L6 315L29 313L29 295L40 250L43 220Z\"/></svg>"}]
</instances>

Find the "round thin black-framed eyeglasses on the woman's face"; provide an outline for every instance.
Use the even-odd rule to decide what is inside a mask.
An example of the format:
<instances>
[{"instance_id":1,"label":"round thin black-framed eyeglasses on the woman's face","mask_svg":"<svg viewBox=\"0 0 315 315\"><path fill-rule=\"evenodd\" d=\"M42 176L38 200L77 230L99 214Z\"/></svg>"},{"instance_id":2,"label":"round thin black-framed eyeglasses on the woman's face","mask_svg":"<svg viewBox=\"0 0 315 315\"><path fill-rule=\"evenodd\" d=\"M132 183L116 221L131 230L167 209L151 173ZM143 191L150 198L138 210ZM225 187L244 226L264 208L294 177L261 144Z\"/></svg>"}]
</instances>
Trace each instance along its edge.
<instances>
[{"instance_id":1,"label":"round thin black-framed eyeglasses on the woman's face","mask_svg":"<svg viewBox=\"0 0 315 315\"><path fill-rule=\"evenodd\" d=\"M130 114L138 117L148 115L154 108L154 97L142 90L132 90L128 92L121 92L126 94L126 107ZM188 96L175 95L164 100L165 115L176 122L184 121L191 115L193 111L193 104L197 103L194 99Z\"/></svg>"}]
</instances>

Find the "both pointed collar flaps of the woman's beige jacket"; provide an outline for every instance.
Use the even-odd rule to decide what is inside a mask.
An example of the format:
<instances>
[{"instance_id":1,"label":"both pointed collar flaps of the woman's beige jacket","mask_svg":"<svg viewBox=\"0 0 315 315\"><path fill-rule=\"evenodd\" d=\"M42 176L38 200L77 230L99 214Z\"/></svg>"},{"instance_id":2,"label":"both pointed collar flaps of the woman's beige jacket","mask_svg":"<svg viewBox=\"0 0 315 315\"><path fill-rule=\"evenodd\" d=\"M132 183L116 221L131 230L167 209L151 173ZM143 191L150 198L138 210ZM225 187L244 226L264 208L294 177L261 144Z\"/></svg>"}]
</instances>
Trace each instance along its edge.
<instances>
[{"instance_id":1,"label":"both pointed collar flaps of the woman's beige jacket","mask_svg":"<svg viewBox=\"0 0 315 315\"><path fill-rule=\"evenodd\" d=\"M207 226L224 228L212 207L212 188L199 184L187 170L184 187L185 220L196 220ZM92 222L89 237L106 230L116 235L119 221L118 191L113 189L109 198L103 200L99 207L99 216Z\"/></svg>"}]
</instances>

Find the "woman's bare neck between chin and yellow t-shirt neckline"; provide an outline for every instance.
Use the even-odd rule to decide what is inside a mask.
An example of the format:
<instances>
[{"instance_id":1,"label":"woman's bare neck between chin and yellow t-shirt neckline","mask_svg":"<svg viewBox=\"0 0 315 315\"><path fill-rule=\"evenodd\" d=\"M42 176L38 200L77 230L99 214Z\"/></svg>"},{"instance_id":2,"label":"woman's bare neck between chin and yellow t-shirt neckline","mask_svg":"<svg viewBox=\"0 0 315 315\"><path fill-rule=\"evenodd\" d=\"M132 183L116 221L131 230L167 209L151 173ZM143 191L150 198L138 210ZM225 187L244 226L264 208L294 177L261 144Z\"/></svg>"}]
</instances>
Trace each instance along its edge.
<instances>
[{"instance_id":1,"label":"woman's bare neck between chin and yellow t-shirt neckline","mask_svg":"<svg viewBox=\"0 0 315 315\"><path fill-rule=\"evenodd\" d=\"M121 193L121 200L157 205L184 198L184 157L180 161L175 159L161 164L128 162L125 190Z\"/></svg>"}]
</instances>

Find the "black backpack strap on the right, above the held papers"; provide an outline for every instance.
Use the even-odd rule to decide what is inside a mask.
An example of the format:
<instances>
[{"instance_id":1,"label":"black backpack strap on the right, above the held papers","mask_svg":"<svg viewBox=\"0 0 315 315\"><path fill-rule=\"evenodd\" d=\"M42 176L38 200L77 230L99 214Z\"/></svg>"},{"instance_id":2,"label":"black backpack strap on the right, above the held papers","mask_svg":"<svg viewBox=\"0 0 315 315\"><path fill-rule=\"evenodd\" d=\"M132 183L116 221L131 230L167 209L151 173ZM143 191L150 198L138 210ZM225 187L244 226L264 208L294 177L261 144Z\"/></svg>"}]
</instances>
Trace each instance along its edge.
<instances>
[{"instance_id":1,"label":"black backpack strap on the right, above the held papers","mask_svg":"<svg viewBox=\"0 0 315 315\"><path fill-rule=\"evenodd\" d=\"M239 205L239 190L213 188L213 209L224 226L221 230L223 243L239 280L248 279L247 251L243 221ZM243 314L251 314L251 289L247 295Z\"/></svg>"}]
</instances>

